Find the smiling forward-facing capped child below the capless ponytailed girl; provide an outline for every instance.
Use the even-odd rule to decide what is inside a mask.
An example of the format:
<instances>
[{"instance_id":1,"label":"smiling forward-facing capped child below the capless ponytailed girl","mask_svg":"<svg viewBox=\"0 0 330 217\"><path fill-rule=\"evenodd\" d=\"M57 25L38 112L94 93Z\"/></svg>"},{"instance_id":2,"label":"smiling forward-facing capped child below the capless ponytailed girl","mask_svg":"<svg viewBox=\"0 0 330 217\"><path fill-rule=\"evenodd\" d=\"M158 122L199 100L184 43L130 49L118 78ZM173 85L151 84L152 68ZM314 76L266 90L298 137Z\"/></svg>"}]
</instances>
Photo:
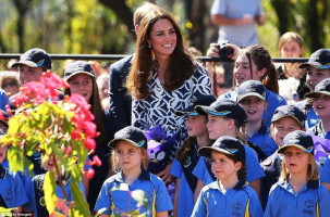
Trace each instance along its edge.
<instances>
[{"instance_id":1,"label":"smiling forward-facing capped child below the capless ponytailed girl","mask_svg":"<svg viewBox=\"0 0 330 217\"><path fill-rule=\"evenodd\" d=\"M255 143L266 156L270 156L278 150L278 145L270 137L270 129L262 122L267 108L266 88L258 80L246 80L237 89L237 102L247 114L247 141Z\"/></svg>"}]
</instances>

